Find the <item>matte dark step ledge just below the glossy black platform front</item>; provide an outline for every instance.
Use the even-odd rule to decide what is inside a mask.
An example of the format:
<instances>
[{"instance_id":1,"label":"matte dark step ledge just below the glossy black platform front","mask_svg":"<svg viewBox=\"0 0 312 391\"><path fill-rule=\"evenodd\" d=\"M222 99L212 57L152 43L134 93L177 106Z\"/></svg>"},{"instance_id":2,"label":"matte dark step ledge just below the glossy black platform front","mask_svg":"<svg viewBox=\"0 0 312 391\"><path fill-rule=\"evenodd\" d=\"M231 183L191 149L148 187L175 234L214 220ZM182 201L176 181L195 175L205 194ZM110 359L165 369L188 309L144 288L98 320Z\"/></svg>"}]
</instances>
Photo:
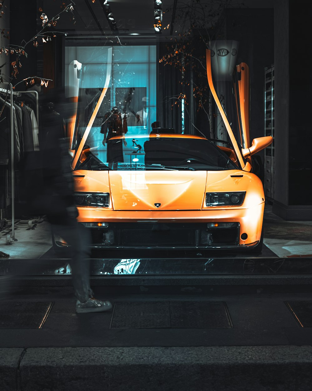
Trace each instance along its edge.
<instances>
[{"instance_id":1,"label":"matte dark step ledge just below the glossy black platform front","mask_svg":"<svg viewBox=\"0 0 312 391\"><path fill-rule=\"evenodd\" d=\"M16 276L19 286L72 286L71 275L63 276ZM312 274L257 274L213 276L91 276L93 286L207 286L207 285L312 285ZM312 289L312 288L311 288Z\"/></svg>"}]
</instances>

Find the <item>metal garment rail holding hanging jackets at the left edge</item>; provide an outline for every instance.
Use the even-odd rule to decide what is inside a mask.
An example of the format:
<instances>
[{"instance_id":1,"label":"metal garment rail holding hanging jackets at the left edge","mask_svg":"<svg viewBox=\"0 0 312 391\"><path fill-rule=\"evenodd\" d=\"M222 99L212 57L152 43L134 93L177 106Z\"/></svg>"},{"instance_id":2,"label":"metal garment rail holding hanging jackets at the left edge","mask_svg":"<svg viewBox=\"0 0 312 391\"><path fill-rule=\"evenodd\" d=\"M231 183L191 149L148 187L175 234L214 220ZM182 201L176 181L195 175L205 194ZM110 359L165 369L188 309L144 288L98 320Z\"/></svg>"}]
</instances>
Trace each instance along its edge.
<instances>
[{"instance_id":1,"label":"metal garment rail holding hanging jackets at the left edge","mask_svg":"<svg viewBox=\"0 0 312 391\"><path fill-rule=\"evenodd\" d=\"M2 88L1 86L6 86L6 88ZM11 234L7 235L6 244L12 244L12 242L17 242L15 239L15 231L14 231L14 198L15 198L15 187L14 187L14 127L13 127L13 95L21 96L21 93L31 92L35 93L36 97L36 109L37 109L37 124L39 129L39 105L38 105L38 92L37 91L13 91L13 87L11 83L0 83L0 93L5 93L6 96L10 95L10 117L11 117L11 209L12 209L12 230ZM1 100L2 102L2 100ZM9 102L8 102L9 103ZM5 102L3 101L3 104Z\"/></svg>"}]
</instances>

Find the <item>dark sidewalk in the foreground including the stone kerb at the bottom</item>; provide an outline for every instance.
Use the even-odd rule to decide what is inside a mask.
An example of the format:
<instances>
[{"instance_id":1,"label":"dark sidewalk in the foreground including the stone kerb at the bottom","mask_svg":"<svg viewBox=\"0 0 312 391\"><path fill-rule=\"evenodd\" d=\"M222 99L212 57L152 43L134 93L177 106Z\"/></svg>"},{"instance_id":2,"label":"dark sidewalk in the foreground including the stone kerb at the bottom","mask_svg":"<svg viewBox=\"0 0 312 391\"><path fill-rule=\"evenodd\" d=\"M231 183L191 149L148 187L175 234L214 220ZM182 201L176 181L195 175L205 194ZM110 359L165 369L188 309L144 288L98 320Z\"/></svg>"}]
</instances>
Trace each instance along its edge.
<instances>
[{"instance_id":1,"label":"dark sidewalk in the foreground including the stone kerb at the bottom","mask_svg":"<svg viewBox=\"0 0 312 391\"><path fill-rule=\"evenodd\" d=\"M286 305L310 302L311 294L258 292L117 295L107 287L97 297L111 300L113 311L97 314L76 314L70 287L16 293L5 303L53 306L41 328L0 327L0 390L311 390L310 315L302 327ZM177 303L188 306L180 317L192 328L174 326ZM218 311L203 313L216 303L225 303L229 324ZM119 312L119 321L134 323L114 326L124 304L137 314Z\"/></svg>"}]
</instances>

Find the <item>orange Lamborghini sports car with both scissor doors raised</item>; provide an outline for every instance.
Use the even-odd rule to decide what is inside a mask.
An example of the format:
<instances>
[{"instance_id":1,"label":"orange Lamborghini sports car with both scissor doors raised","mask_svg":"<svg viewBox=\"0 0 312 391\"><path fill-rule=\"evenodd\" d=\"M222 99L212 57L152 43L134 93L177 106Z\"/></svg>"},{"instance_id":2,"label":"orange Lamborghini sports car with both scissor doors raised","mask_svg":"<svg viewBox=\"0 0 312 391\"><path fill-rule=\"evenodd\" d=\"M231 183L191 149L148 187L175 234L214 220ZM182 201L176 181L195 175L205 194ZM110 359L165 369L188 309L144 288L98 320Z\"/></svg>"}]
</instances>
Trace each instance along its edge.
<instances>
[{"instance_id":1,"label":"orange Lamborghini sports car with both scissor doors raised","mask_svg":"<svg viewBox=\"0 0 312 391\"><path fill-rule=\"evenodd\" d=\"M72 167L78 221L91 229L94 248L261 251L264 191L250 156L272 138L250 143L248 66L236 66L223 80L229 106L219 99L209 50L206 60L209 88L227 131L223 140L162 128L102 140L92 125L109 76L87 122L81 120L79 95L69 130ZM55 237L54 245L66 243Z\"/></svg>"}]
</instances>

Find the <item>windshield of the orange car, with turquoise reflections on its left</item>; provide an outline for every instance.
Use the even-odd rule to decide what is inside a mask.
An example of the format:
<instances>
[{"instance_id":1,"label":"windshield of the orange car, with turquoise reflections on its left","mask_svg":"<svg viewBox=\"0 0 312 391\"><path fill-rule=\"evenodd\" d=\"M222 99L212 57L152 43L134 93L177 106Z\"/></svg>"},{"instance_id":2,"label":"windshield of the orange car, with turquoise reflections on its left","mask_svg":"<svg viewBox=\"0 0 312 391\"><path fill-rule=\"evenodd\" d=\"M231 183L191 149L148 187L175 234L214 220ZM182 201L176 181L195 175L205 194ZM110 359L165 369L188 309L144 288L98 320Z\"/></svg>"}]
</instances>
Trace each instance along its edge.
<instances>
[{"instance_id":1,"label":"windshield of the orange car, with turquoise reflections on its left","mask_svg":"<svg viewBox=\"0 0 312 391\"><path fill-rule=\"evenodd\" d=\"M99 135L97 135L99 136ZM76 169L83 170L233 170L229 156L204 138L126 134L103 145L100 134L85 145ZM97 141L96 141L97 140ZM88 140L87 140L88 141Z\"/></svg>"}]
</instances>

